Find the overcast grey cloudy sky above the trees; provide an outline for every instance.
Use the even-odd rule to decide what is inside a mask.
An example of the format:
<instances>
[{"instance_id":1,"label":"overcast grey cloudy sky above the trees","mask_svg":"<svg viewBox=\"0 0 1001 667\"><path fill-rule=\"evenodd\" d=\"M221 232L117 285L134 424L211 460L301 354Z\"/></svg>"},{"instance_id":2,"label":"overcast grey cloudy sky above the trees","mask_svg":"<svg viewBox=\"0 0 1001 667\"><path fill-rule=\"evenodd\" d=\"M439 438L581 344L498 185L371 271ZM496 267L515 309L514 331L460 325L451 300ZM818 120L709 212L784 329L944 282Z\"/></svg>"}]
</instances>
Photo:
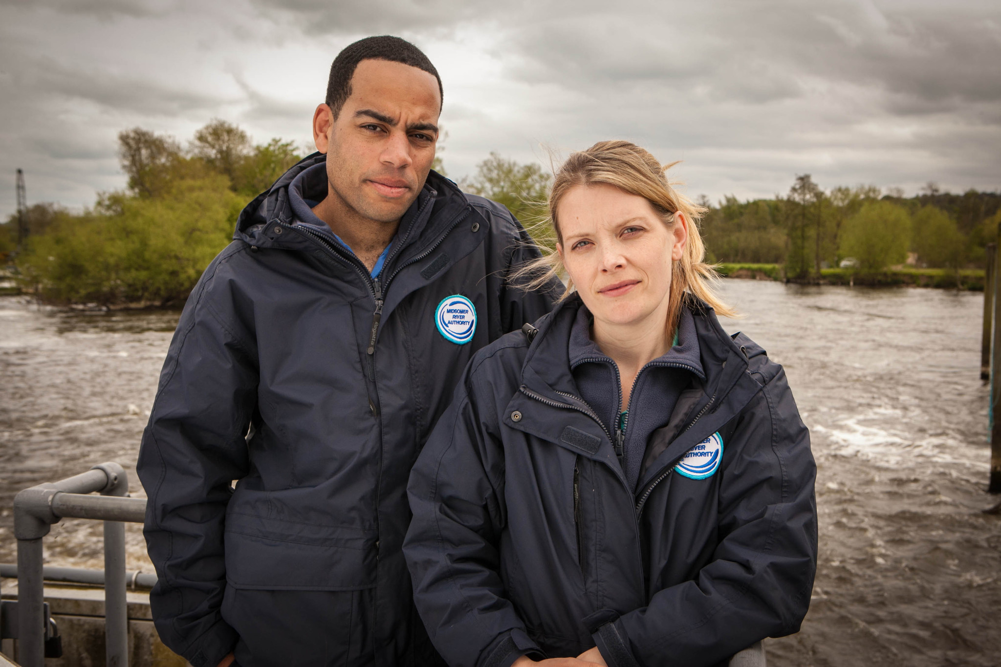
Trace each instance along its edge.
<instances>
[{"instance_id":1,"label":"overcast grey cloudy sky above the trees","mask_svg":"<svg viewBox=\"0 0 1001 667\"><path fill-rule=\"evenodd\" d=\"M337 51L396 34L444 84L442 158L634 140L689 194L1001 189L1001 2L0 0L0 216L124 186L116 135L214 117L310 142Z\"/></svg>"}]
</instances>

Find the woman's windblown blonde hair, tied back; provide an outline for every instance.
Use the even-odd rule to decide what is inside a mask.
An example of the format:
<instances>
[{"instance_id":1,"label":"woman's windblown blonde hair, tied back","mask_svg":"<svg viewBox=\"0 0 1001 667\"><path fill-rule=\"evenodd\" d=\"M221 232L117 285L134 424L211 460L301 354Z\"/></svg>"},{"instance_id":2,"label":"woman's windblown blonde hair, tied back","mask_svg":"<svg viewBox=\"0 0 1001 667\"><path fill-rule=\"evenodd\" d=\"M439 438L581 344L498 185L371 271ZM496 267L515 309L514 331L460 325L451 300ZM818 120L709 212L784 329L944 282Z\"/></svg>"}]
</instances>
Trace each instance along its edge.
<instances>
[{"instance_id":1,"label":"woman's windblown blonde hair, tied back","mask_svg":"<svg viewBox=\"0 0 1001 667\"><path fill-rule=\"evenodd\" d=\"M668 306L669 334L674 333L681 312L682 301L688 292L712 306L718 315L735 317L736 312L725 304L713 289L719 279L716 270L707 264L706 246L699 234L698 221L706 213L699 206L672 187L665 172L678 164L662 165L649 151L629 141L600 141L591 148L572 153L556 173L549 198L549 224L563 244L557 209L564 196L579 185L606 183L624 192L643 197L661 216L664 224L675 224L675 213L681 211L688 218L688 243L680 260L672 265L671 297ZM531 276L530 286L542 286L555 274L566 274L560 254L553 249L527 265L521 272ZM574 290L568 280L566 298Z\"/></svg>"}]
</instances>

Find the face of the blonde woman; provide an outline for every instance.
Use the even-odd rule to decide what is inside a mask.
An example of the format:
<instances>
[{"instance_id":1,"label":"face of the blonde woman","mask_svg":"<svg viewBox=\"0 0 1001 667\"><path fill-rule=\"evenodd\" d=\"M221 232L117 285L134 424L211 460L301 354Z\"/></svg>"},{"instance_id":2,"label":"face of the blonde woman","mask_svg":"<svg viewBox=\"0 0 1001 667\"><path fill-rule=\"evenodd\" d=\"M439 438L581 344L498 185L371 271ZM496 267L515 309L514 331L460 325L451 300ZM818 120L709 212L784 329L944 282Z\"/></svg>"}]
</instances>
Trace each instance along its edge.
<instances>
[{"instance_id":1,"label":"face of the blonde woman","mask_svg":"<svg viewBox=\"0 0 1001 667\"><path fill-rule=\"evenodd\" d=\"M575 186L557 208L563 258L596 321L623 326L667 317L671 266L688 221L668 227L650 202L604 183Z\"/></svg>"}]
</instances>

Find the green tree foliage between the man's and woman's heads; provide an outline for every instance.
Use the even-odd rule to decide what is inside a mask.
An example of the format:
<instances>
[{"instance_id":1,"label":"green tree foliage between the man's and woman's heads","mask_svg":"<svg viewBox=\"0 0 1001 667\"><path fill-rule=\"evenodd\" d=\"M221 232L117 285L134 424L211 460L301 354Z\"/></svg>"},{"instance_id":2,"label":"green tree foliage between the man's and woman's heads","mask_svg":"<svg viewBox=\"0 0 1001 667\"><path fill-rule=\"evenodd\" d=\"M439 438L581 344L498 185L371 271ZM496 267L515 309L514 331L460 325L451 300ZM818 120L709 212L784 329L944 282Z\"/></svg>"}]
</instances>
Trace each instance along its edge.
<instances>
[{"instance_id":1,"label":"green tree foliage between the man's and woman's heads","mask_svg":"<svg viewBox=\"0 0 1001 667\"><path fill-rule=\"evenodd\" d=\"M476 175L459 183L466 192L492 199L508 207L536 241L556 247L556 234L549 223L547 197L553 176L542 165L519 164L496 153L476 166Z\"/></svg>"}]
</instances>

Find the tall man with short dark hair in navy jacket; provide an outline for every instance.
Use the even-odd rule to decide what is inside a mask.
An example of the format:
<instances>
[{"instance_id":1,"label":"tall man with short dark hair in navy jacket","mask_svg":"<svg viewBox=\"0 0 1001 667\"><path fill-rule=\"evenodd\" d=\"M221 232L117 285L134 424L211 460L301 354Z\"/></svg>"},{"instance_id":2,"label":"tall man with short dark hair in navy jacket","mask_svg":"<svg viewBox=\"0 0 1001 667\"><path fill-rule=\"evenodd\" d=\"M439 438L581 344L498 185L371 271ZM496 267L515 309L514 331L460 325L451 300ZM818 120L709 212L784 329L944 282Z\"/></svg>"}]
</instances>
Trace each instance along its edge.
<instances>
[{"instance_id":1,"label":"tall man with short dark hair in navy jacket","mask_svg":"<svg viewBox=\"0 0 1001 667\"><path fill-rule=\"evenodd\" d=\"M513 284L539 252L507 209L430 171L441 96L408 42L341 51L319 152L181 315L137 467L156 627L194 667L437 659L400 551L410 466L473 352L557 294Z\"/></svg>"}]
</instances>

